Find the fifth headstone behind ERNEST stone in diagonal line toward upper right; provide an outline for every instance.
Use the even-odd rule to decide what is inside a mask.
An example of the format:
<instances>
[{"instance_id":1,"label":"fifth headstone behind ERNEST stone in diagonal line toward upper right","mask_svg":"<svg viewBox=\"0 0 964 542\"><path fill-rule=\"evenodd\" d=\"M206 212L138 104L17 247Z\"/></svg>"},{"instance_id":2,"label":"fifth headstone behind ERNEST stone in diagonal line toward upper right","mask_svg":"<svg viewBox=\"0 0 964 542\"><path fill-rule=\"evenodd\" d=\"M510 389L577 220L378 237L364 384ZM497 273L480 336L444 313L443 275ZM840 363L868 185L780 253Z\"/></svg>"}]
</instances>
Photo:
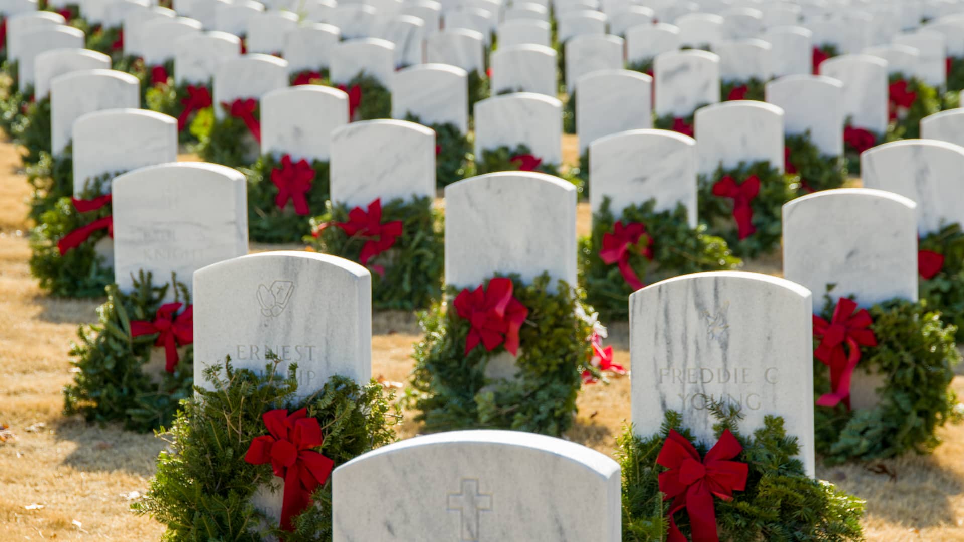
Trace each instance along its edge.
<instances>
[{"instance_id":1,"label":"fifth headstone behind ERNEST stone in diagonal line toward upper right","mask_svg":"<svg viewBox=\"0 0 964 542\"><path fill-rule=\"evenodd\" d=\"M844 116L853 126L883 134L889 96L887 61L870 55L841 55L820 65L820 75L844 83Z\"/></svg>"}]
</instances>

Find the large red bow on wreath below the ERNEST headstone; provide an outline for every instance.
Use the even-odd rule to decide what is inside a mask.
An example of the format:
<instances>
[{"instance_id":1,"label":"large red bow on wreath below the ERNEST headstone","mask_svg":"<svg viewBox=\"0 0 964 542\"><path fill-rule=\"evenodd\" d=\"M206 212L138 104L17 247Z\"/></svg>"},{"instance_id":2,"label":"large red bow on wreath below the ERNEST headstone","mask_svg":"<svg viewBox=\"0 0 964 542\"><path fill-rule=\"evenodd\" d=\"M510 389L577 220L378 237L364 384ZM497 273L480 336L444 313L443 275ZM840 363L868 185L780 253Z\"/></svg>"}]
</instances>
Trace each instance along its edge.
<instances>
[{"instance_id":1,"label":"large red bow on wreath below the ERNEST headstone","mask_svg":"<svg viewBox=\"0 0 964 542\"><path fill-rule=\"evenodd\" d=\"M302 408L288 415L286 409L265 412L261 416L270 435L255 437L244 460L252 465L271 463L276 477L284 479L281 500L281 529L294 530L292 519L311 505L311 493L328 481L335 461L312 448L322 445L318 420L308 418Z\"/></svg>"}]
</instances>

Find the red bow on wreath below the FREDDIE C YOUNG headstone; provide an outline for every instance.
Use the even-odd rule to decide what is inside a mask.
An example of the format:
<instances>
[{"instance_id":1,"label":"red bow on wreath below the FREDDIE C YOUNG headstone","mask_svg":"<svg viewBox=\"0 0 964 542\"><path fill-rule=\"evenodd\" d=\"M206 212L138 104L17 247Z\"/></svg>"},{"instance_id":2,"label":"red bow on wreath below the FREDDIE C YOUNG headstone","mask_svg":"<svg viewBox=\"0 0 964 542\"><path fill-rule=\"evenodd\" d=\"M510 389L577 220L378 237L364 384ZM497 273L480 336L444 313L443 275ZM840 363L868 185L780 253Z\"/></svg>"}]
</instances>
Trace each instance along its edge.
<instances>
[{"instance_id":1,"label":"red bow on wreath below the FREDDIE C YOUNG headstone","mask_svg":"<svg viewBox=\"0 0 964 542\"><path fill-rule=\"evenodd\" d=\"M725 429L701 460L700 453L683 435L675 429L669 430L656 457L656 463L669 469L659 474L659 491L665 495L663 501L673 500L669 508L667 542L686 542L673 519L683 508L689 516L693 542L719 542L713 496L732 501L733 492L746 487L749 465L730 461L742 451L730 429Z\"/></svg>"}]
</instances>

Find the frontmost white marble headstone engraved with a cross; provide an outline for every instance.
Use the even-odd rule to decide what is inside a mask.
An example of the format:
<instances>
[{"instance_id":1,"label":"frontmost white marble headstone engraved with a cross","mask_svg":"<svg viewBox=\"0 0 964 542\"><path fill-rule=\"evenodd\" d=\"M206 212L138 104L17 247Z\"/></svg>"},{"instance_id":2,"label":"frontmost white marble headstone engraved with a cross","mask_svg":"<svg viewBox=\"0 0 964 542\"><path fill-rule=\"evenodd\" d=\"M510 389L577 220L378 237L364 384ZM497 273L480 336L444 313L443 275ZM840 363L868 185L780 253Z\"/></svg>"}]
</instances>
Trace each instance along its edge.
<instances>
[{"instance_id":1,"label":"frontmost white marble headstone engraved with a cross","mask_svg":"<svg viewBox=\"0 0 964 542\"><path fill-rule=\"evenodd\" d=\"M545 435L419 436L356 457L332 480L335 542L622 539L619 465ZM413 484L425 496L412 499ZM358 513L370 503L382 505Z\"/></svg>"}]
</instances>

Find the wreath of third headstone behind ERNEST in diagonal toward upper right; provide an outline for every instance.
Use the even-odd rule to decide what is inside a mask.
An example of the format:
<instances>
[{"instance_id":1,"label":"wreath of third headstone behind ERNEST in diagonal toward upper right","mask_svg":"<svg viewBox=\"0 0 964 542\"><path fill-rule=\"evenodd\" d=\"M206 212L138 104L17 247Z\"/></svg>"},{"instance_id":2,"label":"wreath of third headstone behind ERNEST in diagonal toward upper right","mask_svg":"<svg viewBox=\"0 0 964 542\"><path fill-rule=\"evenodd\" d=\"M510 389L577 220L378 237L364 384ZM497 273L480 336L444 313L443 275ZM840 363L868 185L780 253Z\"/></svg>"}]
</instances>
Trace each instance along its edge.
<instances>
[{"instance_id":1,"label":"wreath of third headstone behind ERNEST in diagonal toward upper right","mask_svg":"<svg viewBox=\"0 0 964 542\"><path fill-rule=\"evenodd\" d=\"M756 231L740 239L734 219L735 200L713 194L713 187L727 176L742 186L753 175L760 179L759 194L750 201L752 225ZM699 176L699 216L706 220L708 232L726 240L736 256L753 258L771 252L780 245L783 236L782 207L796 196L796 190L794 176L781 173L766 161L752 164L741 162L736 168L720 166L710 176Z\"/></svg>"}]
</instances>

